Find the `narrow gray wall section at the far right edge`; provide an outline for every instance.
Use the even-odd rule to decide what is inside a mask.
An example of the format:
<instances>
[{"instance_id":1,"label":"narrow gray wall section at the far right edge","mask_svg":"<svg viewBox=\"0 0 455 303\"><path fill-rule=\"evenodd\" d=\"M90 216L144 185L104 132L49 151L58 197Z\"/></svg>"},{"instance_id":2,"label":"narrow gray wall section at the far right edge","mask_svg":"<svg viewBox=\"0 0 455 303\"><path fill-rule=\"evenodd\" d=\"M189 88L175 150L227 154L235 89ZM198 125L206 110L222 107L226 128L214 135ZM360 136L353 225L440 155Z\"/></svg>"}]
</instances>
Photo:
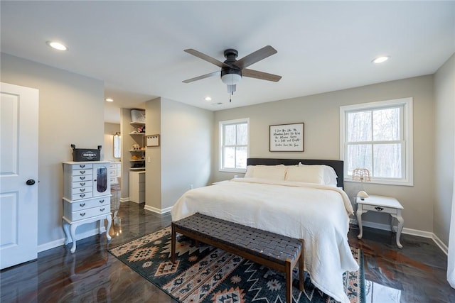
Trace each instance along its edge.
<instances>
[{"instance_id":1,"label":"narrow gray wall section at the far right edge","mask_svg":"<svg viewBox=\"0 0 455 303\"><path fill-rule=\"evenodd\" d=\"M434 96L436 104L434 233L447 245L451 216L452 220L455 220L455 214L451 214L455 154L455 54L434 75Z\"/></svg>"}]
</instances>

